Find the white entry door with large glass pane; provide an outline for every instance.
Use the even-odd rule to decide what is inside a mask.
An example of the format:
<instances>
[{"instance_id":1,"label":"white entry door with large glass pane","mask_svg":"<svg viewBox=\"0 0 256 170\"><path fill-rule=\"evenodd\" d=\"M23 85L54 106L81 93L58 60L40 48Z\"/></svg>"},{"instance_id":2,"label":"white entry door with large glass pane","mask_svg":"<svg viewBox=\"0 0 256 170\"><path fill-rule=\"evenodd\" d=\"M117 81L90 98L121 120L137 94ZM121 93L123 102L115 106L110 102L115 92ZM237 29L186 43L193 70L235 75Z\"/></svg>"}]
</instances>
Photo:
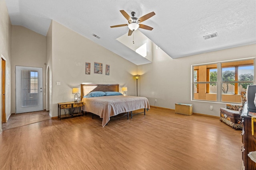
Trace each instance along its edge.
<instances>
[{"instance_id":1,"label":"white entry door with large glass pane","mask_svg":"<svg viewBox=\"0 0 256 170\"><path fill-rule=\"evenodd\" d=\"M16 113L43 110L43 68L16 66Z\"/></svg>"}]
</instances>

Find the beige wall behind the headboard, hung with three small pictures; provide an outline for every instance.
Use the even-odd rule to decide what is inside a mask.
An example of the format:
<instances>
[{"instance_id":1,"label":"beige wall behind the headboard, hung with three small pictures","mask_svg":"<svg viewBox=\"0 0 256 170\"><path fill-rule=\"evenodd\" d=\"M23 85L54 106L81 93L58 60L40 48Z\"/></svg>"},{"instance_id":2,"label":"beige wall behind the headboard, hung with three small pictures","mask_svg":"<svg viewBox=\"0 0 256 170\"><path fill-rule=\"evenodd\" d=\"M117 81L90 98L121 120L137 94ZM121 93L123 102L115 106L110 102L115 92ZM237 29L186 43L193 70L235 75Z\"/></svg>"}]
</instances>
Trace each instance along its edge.
<instances>
[{"instance_id":1,"label":"beige wall behind the headboard, hung with three small pictures","mask_svg":"<svg viewBox=\"0 0 256 170\"><path fill-rule=\"evenodd\" d=\"M48 45L47 45L48 47ZM85 63L91 63L90 75L85 74ZM94 62L103 64L103 73L94 74ZM106 64L110 75L105 75ZM52 21L52 109L58 116L58 103L74 100L73 87L82 83L120 84L128 87L128 95L136 95L137 65L97 45L82 35ZM60 82L60 86L56 85ZM121 88L120 88L121 89Z\"/></svg>"}]
</instances>

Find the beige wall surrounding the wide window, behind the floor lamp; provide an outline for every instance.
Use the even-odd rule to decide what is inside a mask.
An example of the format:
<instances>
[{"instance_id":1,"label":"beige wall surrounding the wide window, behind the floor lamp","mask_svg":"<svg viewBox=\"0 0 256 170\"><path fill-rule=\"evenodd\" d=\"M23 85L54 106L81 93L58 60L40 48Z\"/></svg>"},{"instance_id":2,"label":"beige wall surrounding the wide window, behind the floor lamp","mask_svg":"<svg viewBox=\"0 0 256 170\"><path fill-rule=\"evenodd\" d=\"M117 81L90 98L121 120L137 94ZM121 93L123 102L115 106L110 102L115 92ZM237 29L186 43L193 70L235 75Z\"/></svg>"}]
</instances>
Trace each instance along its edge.
<instances>
[{"instance_id":1,"label":"beige wall surrounding the wide window, behind the floor lamp","mask_svg":"<svg viewBox=\"0 0 256 170\"><path fill-rule=\"evenodd\" d=\"M154 105L155 99L155 106L170 109L175 109L175 103L193 104L193 112L215 116L220 115L224 104L191 101L191 65L256 57L256 44L180 59L171 59L161 50L153 49L153 63L138 66L141 96L147 97L150 105Z\"/></svg>"}]
</instances>

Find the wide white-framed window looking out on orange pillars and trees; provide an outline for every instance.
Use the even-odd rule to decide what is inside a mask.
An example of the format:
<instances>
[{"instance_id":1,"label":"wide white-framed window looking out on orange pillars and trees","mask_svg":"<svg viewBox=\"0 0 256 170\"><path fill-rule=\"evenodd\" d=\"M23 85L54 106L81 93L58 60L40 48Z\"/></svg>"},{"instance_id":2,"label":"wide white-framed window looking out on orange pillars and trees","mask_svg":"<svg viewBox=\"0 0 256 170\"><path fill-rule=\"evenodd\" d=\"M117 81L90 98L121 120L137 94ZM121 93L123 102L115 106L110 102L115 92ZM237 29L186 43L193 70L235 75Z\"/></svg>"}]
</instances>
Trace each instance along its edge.
<instances>
[{"instance_id":1,"label":"wide white-framed window looking out on orange pillars and trees","mask_svg":"<svg viewBox=\"0 0 256 170\"><path fill-rule=\"evenodd\" d=\"M193 65L192 100L240 103L254 84L254 59Z\"/></svg>"}]
</instances>

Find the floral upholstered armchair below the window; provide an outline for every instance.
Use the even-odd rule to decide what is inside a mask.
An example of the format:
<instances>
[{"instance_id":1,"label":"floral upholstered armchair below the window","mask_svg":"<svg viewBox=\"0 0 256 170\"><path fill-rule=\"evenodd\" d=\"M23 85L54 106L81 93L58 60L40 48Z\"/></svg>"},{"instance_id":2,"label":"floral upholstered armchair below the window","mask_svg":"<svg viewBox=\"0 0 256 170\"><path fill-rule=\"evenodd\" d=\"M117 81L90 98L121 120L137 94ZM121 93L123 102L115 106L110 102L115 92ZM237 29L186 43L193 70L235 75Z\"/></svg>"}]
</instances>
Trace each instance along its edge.
<instances>
[{"instance_id":1,"label":"floral upholstered armchair below the window","mask_svg":"<svg viewBox=\"0 0 256 170\"><path fill-rule=\"evenodd\" d=\"M240 95L242 105L226 104L225 108L220 108L220 121L236 130L242 130L241 113L246 102L246 92L241 92Z\"/></svg>"}]
</instances>

